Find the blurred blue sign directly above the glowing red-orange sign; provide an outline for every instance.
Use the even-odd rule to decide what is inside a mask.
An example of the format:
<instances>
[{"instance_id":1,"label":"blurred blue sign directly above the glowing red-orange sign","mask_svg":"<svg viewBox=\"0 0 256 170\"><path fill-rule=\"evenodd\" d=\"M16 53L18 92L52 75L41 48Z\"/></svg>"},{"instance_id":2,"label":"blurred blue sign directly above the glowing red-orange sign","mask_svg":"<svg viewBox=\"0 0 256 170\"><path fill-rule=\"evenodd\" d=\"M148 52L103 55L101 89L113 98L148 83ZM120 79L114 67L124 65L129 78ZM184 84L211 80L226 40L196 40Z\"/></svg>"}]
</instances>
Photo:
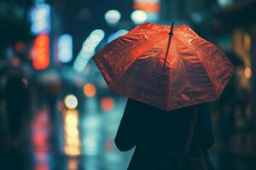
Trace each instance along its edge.
<instances>
[{"instance_id":1,"label":"blurred blue sign directly above the glowing red-orange sign","mask_svg":"<svg viewBox=\"0 0 256 170\"><path fill-rule=\"evenodd\" d=\"M48 33L50 31L50 6L41 4L32 9L30 14L33 34Z\"/></svg>"}]
</instances>

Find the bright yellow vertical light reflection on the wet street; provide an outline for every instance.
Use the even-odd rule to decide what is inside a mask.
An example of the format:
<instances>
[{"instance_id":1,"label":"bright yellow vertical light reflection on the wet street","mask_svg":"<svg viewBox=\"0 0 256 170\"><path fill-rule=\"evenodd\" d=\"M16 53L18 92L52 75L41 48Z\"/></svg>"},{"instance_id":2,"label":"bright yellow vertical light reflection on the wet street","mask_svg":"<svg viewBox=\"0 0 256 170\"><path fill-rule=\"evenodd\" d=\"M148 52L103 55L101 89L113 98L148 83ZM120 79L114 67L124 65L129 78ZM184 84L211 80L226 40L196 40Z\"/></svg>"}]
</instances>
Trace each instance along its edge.
<instances>
[{"instance_id":1,"label":"bright yellow vertical light reflection on the wet street","mask_svg":"<svg viewBox=\"0 0 256 170\"><path fill-rule=\"evenodd\" d=\"M81 155L79 111L64 111L64 151L68 156Z\"/></svg>"}]
</instances>

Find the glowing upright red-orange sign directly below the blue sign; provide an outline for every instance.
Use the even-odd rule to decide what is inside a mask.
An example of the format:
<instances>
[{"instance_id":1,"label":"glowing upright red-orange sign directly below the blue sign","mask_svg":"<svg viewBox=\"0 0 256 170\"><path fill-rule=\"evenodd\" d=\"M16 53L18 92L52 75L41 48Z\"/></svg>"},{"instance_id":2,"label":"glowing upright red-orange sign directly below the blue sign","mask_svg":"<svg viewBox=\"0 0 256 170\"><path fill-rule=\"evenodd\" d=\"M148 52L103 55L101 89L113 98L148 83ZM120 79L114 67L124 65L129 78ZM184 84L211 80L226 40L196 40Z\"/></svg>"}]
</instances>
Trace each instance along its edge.
<instances>
[{"instance_id":1,"label":"glowing upright red-orange sign directly below the blue sign","mask_svg":"<svg viewBox=\"0 0 256 170\"><path fill-rule=\"evenodd\" d=\"M49 66L49 35L36 37L32 48L32 64L36 70L44 70Z\"/></svg>"}]
</instances>

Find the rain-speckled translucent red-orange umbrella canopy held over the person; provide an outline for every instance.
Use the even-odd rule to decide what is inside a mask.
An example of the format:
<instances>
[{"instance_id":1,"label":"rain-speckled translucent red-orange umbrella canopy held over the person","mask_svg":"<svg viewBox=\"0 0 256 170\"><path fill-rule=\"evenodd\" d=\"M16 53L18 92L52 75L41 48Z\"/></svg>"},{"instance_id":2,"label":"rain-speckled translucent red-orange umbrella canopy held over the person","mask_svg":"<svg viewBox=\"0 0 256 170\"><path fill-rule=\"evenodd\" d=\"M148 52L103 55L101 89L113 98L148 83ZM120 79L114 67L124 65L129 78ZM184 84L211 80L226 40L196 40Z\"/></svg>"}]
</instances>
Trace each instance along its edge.
<instances>
[{"instance_id":1,"label":"rain-speckled translucent red-orange umbrella canopy held over the person","mask_svg":"<svg viewBox=\"0 0 256 170\"><path fill-rule=\"evenodd\" d=\"M171 111L218 99L235 71L225 54L189 26L145 23L94 57L114 93Z\"/></svg>"}]
</instances>

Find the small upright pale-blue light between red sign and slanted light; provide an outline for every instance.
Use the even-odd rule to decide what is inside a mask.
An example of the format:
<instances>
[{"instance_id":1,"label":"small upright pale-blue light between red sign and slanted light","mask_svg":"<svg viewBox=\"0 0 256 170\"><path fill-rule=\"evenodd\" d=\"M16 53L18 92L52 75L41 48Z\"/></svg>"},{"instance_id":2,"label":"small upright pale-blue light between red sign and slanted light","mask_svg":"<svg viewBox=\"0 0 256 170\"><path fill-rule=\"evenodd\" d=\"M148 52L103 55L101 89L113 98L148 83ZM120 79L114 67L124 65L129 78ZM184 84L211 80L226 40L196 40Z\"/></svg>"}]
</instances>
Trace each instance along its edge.
<instances>
[{"instance_id":1,"label":"small upright pale-blue light between red sign and slanted light","mask_svg":"<svg viewBox=\"0 0 256 170\"><path fill-rule=\"evenodd\" d=\"M73 40L69 34L64 34L59 38L58 59L63 63L73 59Z\"/></svg>"}]
</instances>

